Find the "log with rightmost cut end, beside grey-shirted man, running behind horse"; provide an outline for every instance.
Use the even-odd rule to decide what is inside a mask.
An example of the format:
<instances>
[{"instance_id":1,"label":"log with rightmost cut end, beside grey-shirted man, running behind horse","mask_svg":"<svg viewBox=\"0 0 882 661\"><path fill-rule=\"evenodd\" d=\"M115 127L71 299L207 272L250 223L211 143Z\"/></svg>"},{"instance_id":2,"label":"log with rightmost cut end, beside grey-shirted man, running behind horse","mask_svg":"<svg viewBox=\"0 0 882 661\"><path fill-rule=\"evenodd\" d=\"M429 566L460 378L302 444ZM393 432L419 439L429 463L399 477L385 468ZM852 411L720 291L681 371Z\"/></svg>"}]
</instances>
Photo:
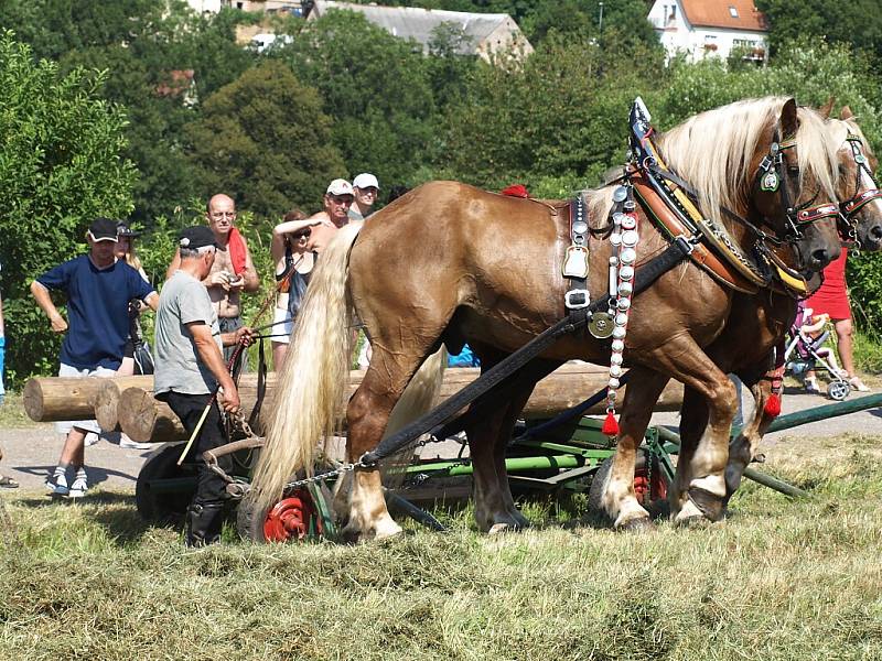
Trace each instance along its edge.
<instances>
[{"instance_id":1,"label":"log with rightmost cut end, beside grey-shirted man, running behind horse","mask_svg":"<svg viewBox=\"0 0 882 661\"><path fill-rule=\"evenodd\" d=\"M449 369L444 373L441 392L437 403L440 403L463 387L471 383L481 370L477 368ZM349 394L362 382L363 370L349 372ZM567 364L561 366L549 377L536 384L533 395L524 409L523 415L527 419L550 418L569 409L600 390L606 384L609 372L606 368L587 364ZM132 441L140 443L162 443L182 441L185 438L183 426L176 420L166 404L158 402L152 393L140 389L130 389L137 392L123 391L119 400L119 421L122 431ZM272 408L272 388L267 390L263 411ZM240 383L239 399L246 416L250 415L257 400L256 387ZM620 397L620 400L621 397ZM656 405L656 411L677 411L682 402L682 386L677 382L668 383ZM605 402L601 402L589 413L603 413ZM172 420L170 420L170 418ZM255 430L257 431L257 430Z\"/></svg>"}]
</instances>

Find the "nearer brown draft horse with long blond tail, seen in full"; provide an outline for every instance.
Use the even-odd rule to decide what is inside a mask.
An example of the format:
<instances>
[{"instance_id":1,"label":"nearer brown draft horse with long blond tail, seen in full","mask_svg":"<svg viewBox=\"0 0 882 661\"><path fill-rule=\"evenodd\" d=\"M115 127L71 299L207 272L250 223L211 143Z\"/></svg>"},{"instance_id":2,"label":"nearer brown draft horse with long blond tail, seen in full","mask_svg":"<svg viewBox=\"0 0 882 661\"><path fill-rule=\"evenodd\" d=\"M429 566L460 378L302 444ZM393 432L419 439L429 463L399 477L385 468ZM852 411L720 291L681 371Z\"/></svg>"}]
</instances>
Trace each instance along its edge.
<instances>
[{"instance_id":1,"label":"nearer brown draft horse with long blond tail, seen in full","mask_svg":"<svg viewBox=\"0 0 882 661\"><path fill-rule=\"evenodd\" d=\"M822 118L797 108L793 99L741 101L698 115L660 136L658 148L668 165L699 192L704 214L725 224L746 247L756 237L723 217L721 206L778 237L787 234L779 192L756 185L760 163L777 136L793 137L797 145L785 156L782 187L787 187L789 199L797 205L832 199L838 145L830 143ZM607 186L585 194L594 227L606 224L612 191ZM561 266L570 241L561 225L553 212L536 202L433 182L397 199L363 228L347 226L338 232L313 274L293 333L292 355L255 475L256 505L269 507L292 475L310 470L316 444L333 434L355 316L370 336L374 356L346 409L351 462L377 445L408 382L442 343L456 349L467 340L488 369L566 314ZM668 239L642 210L638 228L639 268L665 250ZM611 247L592 239L590 249L589 288L598 297L607 288ZM822 269L839 253L835 220L805 228L794 253L800 270ZM647 375L678 379L706 398L708 431L692 462L689 489L701 489L720 502L735 393L701 347L723 329L731 301L730 289L686 260L634 297L625 340L627 364L645 366ZM609 346L609 340L579 334L540 358L604 364ZM634 379L631 383L628 392ZM525 383L505 401L490 402L466 429L475 517L482 530L527 524L512 498L504 455L533 387ZM609 513L619 525L648 521L633 489L635 451L647 420L632 413L625 401L606 491ZM399 532L386 509L379 472L356 468L352 481L344 532L363 539ZM697 509L688 513L700 516Z\"/></svg>"}]
</instances>

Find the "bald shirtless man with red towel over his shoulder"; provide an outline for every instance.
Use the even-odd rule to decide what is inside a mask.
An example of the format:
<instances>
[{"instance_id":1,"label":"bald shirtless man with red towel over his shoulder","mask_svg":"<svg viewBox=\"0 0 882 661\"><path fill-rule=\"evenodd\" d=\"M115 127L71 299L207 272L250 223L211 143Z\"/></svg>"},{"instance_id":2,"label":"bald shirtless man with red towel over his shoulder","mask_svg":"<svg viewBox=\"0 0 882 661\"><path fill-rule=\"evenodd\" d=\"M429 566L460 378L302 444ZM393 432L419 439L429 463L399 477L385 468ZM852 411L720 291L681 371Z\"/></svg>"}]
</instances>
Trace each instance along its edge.
<instances>
[{"instance_id":1,"label":"bald shirtless man with red towel over his shoulder","mask_svg":"<svg viewBox=\"0 0 882 661\"><path fill-rule=\"evenodd\" d=\"M208 290L220 333L235 333L243 327L240 293L256 292L260 279L251 261L248 243L235 228L236 203L228 195L218 194L208 201L205 214L208 227L217 241L217 252L208 275L202 281ZM175 250L165 280L181 267L181 254ZM235 346L224 347L224 360L229 360Z\"/></svg>"}]
</instances>

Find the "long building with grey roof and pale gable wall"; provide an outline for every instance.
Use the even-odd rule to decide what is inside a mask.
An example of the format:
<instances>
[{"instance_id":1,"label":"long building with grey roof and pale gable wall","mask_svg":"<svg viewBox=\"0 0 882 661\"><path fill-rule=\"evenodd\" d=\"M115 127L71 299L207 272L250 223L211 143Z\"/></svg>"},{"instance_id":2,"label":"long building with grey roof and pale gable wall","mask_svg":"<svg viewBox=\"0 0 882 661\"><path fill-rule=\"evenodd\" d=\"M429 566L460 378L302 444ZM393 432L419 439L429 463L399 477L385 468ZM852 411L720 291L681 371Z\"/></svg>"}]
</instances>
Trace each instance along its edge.
<instances>
[{"instance_id":1,"label":"long building with grey roof and pale gable wall","mask_svg":"<svg viewBox=\"0 0 882 661\"><path fill-rule=\"evenodd\" d=\"M417 7L380 7L315 0L306 17L314 20L332 9L357 11L375 25L400 39L412 39L428 51L439 29L450 26L460 32L459 53L478 55L490 61L496 53L509 52L516 57L533 53L533 46L515 20L505 13L442 11Z\"/></svg>"}]
</instances>

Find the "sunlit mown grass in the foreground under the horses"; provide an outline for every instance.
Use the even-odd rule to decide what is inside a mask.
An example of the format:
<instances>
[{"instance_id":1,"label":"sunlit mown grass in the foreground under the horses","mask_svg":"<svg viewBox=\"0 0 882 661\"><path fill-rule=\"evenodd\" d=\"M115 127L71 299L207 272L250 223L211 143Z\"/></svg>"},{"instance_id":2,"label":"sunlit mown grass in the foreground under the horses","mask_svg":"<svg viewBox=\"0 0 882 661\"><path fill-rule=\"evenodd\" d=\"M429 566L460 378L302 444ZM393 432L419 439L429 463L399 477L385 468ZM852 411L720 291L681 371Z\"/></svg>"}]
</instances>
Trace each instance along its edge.
<instances>
[{"instance_id":1,"label":"sunlit mown grass in the foreground under the horses","mask_svg":"<svg viewBox=\"0 0 882 661\"><path fill-rule=\"evenodd\" d=\"M6 497L3 659L882 659L882 447L785 438L721 524L621 534L530 505L537 525L355 546L184 551L129 495ZM577 500L577 505L578 505Z\"/></svg>"}]
</instances>

